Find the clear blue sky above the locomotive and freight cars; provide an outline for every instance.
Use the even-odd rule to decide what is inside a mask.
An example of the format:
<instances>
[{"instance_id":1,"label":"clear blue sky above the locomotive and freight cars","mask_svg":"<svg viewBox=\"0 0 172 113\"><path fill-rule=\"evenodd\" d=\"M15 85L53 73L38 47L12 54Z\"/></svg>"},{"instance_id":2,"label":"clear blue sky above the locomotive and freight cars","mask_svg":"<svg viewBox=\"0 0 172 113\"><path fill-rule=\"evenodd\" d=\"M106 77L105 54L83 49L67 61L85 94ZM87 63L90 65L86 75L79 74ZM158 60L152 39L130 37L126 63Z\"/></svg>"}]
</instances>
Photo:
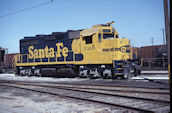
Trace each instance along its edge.
<instances>
[{"instance_id":1,"label":"clear blue sky above the locomotive and freight cars","mask_svg":"<svg viewBox=\"0 0 172 113\"><path fill-rule=\"evenodd\" d=\"M49 0L0 0L0 16ZM19 52L24 36L91 28L115 21L120 37L135 47L163 44L163 0L53 0L53 2L0 18L0 46Z\"/></svg>"}]
</instances>

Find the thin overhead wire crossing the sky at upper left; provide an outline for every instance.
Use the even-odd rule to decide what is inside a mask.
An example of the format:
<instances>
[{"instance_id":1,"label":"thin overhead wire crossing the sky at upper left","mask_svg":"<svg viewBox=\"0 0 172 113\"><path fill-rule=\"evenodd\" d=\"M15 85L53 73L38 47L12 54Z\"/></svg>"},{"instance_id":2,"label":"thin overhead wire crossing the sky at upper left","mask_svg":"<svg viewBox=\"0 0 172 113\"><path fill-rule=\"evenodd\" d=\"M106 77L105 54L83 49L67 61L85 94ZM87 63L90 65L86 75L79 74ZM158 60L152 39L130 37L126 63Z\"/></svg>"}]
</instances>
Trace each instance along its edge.
<instances>
[{"instance_id":1,"label":"thin overhead wire crossing the sky at upper left","mask_svg":"<svg viewBox=\"0 0 172 113\"><path fill-rule=\"evenodd\" d=\"M53 0L49 0L47 2L43 2L43 3L28 7L28 8L25 8L25 9L21 9L21 10L17 10L17 11L11 12L11 13L7 13L7 14L4 14L4 15L0 15L0 18L11 16L11 15L14 15L14 14L17 14L17 13L20 13L20 12L24 12L24 11L27 11L27 10L30 10L30 9L33 9L33 8L36 8L36 7L43 6L43 5L47 5L47 4L51 3L51 2L53 2Z\"/></svg>"}]
</instances>

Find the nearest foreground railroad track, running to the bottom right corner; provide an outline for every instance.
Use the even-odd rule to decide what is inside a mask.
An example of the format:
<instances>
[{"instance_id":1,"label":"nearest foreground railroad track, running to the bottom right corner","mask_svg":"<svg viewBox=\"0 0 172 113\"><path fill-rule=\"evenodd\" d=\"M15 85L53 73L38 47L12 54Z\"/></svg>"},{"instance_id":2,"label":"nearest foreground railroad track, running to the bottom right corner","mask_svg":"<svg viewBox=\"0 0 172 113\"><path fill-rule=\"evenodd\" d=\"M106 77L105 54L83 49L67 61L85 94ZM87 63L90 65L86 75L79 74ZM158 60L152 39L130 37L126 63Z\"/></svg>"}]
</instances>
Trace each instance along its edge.
<instances>
[{"instance_id":1,"label":"nearest foreground railroad track, running to the bottom right corner","mask_svg":"<svg viewBox=\"0 0 172 113\"><path fill-rule=\"evenodd\" d=\"M88 86L67 86L60 84L40 84L40 83L0 83L2 86L19 88L23 90L29 90L33 92L45 93L50 95L56 95L64 98L72 98L82 101L94 102L97 104L104 104L112 107L119 107L122 109L133 110L137 112L168 112L169 111L169 92L154 90L150 93L150 89L143 90L115 90L103 87L88 87ZM125 92L124 92L125 91ZM134 91L134 92L133 92ZM115 93L120 92L120 94ZM149 92L149 93L148 93ZM164 93L163 93L164 92ZM129 95L133 93L132 95ZM143 94L142 97L134 94ZM159 93L159 94L158 94ZM167 99L147 98L146 94L167 96ZM151 97L151 96L150 96Z\"/></svg>"}]
</instances>

